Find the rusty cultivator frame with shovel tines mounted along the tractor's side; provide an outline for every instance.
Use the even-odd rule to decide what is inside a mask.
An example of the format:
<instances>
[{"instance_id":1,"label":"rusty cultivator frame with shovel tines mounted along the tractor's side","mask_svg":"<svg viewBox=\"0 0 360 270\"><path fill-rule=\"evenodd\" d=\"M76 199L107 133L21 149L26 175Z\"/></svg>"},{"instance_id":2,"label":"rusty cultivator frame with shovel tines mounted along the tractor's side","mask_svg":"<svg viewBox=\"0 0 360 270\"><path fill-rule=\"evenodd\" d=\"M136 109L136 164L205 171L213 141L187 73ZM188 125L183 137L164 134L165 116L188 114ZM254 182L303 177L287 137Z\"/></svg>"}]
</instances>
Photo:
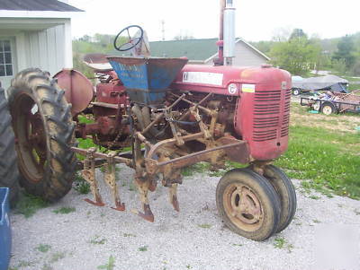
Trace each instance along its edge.
<instances>
[{"instance_id":1,"label":"rusty cultivator frame with shovel tines mounted along the tractor's side","mask_svg":"<svg viewBox=\"0 0 360 270\"><path fill-rule=\"evenodd\" d=\"M211 164L211 169L217 170L224 166L226 155L233 161L240 161L242 163L247 163L249 161L248 148L245 141L238 140L229 134L223 135L215 140L213 135L216 133L215 124L217 123L218 117L217 110L202 107L202 103L209 100L213 96L213 93L207 94L198 103L187 100L185 98L185 93L180 96L173 93L172 95L176 100L171 105L162 109L162 112L157 115L157 118L149 123L148 126L145 126L143 130L131 132L133 134L133 158L121 157L121 153L120 155L117 155L116 152L96 152L95 148L85 150L78 147L71 147L72 151L85 156L82 175L89 183L91 192L94 196L94 200L86 198L85 201L87 203L96 206L104 205L98 188L99 184L94 173L95 159L98 159L97 163L99 162L99 159L104 162L104 180L111 189L114 202L114 207L112 207L112 209L114 210L125 210L125 205L121 204L118 191L119 187L117 187L115 182L115 164L123 163L135 170L135 184L139 190L140 201L144 212L142 213L135 209L132 209L131 212L138 214L148 222L154 222L154 216L148 202L148 191L154 191L156 189L157 174L161 173L163 175L162 184L164 187L169 187L169 201L173 205L175 211L179 211L180 207L176 191L177 185L182 184L183 182L181 174L182 168L200 161L208 161ZM191 107L183 112L183 116L179 120L174 120L174 118L172 118L172 109L182 100L190 104ZM199 109L211 117L210 126L207 126L202 121ZM182 119L189 115L196 119L196 122L193 124L199 126L200 132L189 134L176 125L176 122L184 123ZM164 119L169 123L173 137L158 141L156 144L150 143L146 137L148 130ZM218 129L220 128L220 126L217 127ZM175 153L179 154L178 149L175 148L176 146L182 146L185 142L189 141L200 142L206 145L206 148L198 152L182 152L180 156L171 158ZM147 152L142 151L141 145L145 145Z\"/></svg>"}]
</instances>

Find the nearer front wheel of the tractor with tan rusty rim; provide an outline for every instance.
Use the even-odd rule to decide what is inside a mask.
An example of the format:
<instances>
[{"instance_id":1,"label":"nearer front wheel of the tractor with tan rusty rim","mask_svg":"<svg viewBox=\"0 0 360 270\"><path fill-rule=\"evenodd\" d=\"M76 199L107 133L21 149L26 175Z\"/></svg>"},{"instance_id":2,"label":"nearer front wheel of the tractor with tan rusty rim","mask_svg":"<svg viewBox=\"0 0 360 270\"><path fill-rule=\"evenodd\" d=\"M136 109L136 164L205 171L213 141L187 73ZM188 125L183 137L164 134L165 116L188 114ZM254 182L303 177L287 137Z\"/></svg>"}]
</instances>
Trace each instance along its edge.
<instances>
[{"instance_id":1,"label":"nearer front wheel of the tractor with tan rusty rim","mask_svg":"<svg viewBox=\"0 0 360 270\"><path fill-rule=\"evenodd\" d=\"M248 239L266 240L277 230L279 198L274 187L252 170L229 170L216 188L216 205L229 229Z\"/></svg>"}]
</instances>

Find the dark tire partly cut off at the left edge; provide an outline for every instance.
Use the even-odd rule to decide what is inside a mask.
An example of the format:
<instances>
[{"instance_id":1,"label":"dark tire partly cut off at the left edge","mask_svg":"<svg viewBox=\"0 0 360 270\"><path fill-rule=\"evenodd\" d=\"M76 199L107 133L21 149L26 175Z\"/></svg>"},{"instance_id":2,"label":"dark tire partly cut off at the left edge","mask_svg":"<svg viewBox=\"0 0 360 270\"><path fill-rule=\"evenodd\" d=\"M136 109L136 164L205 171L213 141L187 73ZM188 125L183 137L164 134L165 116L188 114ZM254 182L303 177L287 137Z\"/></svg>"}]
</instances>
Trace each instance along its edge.
<instances>
[{"instance_id":1,"label":"dark tire partly cut off at the left edge","mask_svg":"<svg viewBox=\"0 0 360 270\"><path fill-rule=\"evenodd\" d=\"M10 188L10 205L14 206L19 197L19 171L11 121L4 89L0 88L0 187Z\"/></svg>"}]
</instances>

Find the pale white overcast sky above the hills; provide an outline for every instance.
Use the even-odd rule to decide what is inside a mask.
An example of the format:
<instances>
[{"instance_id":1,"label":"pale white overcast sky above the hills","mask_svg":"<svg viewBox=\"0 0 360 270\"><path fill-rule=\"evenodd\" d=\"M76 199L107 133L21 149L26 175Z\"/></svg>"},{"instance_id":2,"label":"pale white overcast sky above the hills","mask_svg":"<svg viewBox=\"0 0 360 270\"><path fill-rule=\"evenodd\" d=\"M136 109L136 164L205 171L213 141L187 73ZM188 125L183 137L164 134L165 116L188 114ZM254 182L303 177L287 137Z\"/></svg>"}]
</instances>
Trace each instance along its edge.
<instances>
[{"instance_id":1,"label":"pale white overcast sky above the hills","mask_svg":"<svg viewBox=\"0 0 360 270\"><path fill-rule=\"evenodd\" d=\"M234 0L236 34L247 41L270 40L293 28L321 39L360 31L360 1ZM219 35L220 0L68 0L85 13L76 14L72 35L116 34L130 24L148 32L151 41L176 35L196 39Z\"/></svg>"}]
</instances>

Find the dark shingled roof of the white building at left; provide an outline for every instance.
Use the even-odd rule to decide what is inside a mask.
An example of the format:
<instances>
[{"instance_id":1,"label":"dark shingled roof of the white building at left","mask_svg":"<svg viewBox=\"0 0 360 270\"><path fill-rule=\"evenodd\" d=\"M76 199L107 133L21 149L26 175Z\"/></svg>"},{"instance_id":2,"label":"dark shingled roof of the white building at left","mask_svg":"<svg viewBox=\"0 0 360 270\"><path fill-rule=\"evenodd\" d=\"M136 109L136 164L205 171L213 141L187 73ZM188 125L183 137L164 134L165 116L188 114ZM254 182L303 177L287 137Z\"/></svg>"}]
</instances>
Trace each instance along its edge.
<instances>
[{"instance_id":1,"label":"dark shingled roof of the white building at left","mask_svg":"<svg viewBox=\"0 0 360 270\"><path fill-rule=\"evenodd\" d=\"M75 6L57 0L0 0L0 10L83 12L83 10L78 9Z\"/></svg>"}]
</instances>

